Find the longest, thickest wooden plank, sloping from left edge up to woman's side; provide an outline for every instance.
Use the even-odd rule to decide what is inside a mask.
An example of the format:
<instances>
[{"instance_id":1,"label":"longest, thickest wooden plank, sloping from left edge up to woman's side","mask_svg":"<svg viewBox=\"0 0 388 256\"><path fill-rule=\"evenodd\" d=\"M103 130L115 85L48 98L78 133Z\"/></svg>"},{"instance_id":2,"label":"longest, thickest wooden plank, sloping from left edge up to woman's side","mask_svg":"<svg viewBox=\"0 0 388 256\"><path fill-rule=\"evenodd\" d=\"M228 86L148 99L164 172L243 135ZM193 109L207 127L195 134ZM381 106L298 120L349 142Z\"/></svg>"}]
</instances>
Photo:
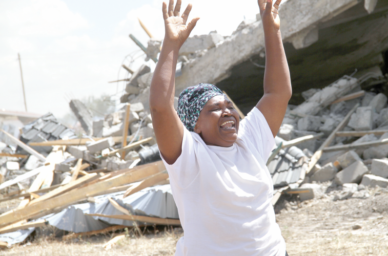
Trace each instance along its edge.
<instances>
[{"instance_id":1,"label":"longest, thickest wooden plank, sloping from left edge up to woman's side","mask_svg":"<svg viewBox=\"0 0 388 256\"><path fill-rule=\"evenodd\" d=\"M44 211L48 211L57 207L62 207L64 205L68 205L73 202L92 197L94 196L94 194L98 194L101 191L105 191L112 187L129 184L139 179L144 179L148 176L159 173L160 171L161 169L159 169L157 165L148 166L146 168L140 168L134 172L117 175L113 178L98 183L94 183L81 188L72 189L62 195L32 204L32 202L34 202L35 200L40 200L47 194L53 192L51 191L50 193L47 193L46 195L31 201L30 204L23 209L13 209L0 215L0 227L7 226L20 220L31 219ZM81 177L80 179L84 177ZM77 179L76 181L80 179Z\"/></svg>"}]
</instances>

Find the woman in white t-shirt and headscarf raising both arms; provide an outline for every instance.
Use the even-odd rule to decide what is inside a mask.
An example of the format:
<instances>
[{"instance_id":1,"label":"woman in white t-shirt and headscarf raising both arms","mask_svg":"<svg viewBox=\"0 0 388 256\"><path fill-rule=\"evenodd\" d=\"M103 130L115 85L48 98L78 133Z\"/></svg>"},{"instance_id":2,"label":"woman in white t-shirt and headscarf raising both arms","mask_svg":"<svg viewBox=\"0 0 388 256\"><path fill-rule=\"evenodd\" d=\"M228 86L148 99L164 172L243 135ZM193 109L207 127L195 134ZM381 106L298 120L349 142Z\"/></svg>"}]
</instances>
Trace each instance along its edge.
<instances>
[{"instance_id":1,"label":"woman in white t-shirt and headscarf raising both arms","mask_svg":"<svg viewBox=\"0 0 388 256\"><path fill-rule=\"evenodd\" d=\"M174 110L178 53L198 17L181 0L162 5L165 39L150 87L150 110L160 155L185 236L175 255L287 255L271 204L266 161L291 97L280 34L278 0L259 0L266 44L264 95L242 121L212 84L184 90Z\"/></svg>"}]
</instances>

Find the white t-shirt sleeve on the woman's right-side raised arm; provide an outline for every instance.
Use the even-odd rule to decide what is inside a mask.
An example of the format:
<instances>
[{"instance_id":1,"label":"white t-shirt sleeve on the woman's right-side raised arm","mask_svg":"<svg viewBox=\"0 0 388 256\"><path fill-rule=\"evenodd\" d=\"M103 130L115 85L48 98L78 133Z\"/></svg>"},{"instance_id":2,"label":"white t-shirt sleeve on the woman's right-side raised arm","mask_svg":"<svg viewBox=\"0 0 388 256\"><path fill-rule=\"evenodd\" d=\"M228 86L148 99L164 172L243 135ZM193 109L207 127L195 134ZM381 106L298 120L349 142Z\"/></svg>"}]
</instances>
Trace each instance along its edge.
<instances>
[{"instance_id":1,"label":"white t-shirt sleeve on the woman's right-side raised arm","mask_svg":"<svg viewBox=\"0 0 388 256\"><path fill-rule=\"evenodd\" d=\"M240 121L238 138L244 142L252 143L264 161L267 161L275 146L270 126L256 107Z\"/></svg>"}]
</instances>

